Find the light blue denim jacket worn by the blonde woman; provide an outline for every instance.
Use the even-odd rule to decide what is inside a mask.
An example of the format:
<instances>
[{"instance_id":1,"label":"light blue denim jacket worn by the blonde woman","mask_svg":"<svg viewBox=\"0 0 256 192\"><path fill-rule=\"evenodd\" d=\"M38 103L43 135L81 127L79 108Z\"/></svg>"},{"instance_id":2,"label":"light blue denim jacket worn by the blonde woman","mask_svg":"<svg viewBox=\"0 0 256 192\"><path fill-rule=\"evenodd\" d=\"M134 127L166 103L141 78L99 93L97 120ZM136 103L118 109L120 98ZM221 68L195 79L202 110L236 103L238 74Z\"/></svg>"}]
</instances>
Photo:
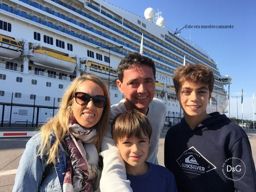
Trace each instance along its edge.
<instances>
[{"instance_id":1,"label":"light blue denim jacket worn by the blonde woman","mask_svg":"<svg viewBox=\"0 0 256 192\"><path fill-rule=\"evenodd\" d=\"M55 136L49 137L50 147L55 142ZM66 172L66 152L62 145L58 147L59 162L52 166L49 174L41 184L42 175L46 168L47 156L36 153L41 145L41 134L36 134L26 144L25 151L15 177L13 192L62 192L63 180Z\"/></svg>"}]
</instances>

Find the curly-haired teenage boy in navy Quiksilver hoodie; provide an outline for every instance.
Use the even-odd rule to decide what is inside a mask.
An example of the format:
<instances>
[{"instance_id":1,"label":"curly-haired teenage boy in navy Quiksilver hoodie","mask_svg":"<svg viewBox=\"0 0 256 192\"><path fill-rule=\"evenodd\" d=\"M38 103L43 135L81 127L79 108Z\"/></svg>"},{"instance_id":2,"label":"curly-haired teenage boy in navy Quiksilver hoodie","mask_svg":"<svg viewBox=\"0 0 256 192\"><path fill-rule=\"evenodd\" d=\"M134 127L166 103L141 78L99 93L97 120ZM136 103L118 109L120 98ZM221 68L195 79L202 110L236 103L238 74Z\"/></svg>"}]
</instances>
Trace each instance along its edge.
<instances>
[{"instance_id":1,"label":"curly-haired teenage boy in navy Quiksilver hoodie","mask_svg":"<svg viewBox=\"0 0 256 192\"><path fill-rule=\"evenodd\" d=\"M207 114L214 84L212 71L189 64L175 71L181 122L165 139L165 166L179 192L256 192L256 173L247 135L224 114Z\"/></svg>"}]
</instances>

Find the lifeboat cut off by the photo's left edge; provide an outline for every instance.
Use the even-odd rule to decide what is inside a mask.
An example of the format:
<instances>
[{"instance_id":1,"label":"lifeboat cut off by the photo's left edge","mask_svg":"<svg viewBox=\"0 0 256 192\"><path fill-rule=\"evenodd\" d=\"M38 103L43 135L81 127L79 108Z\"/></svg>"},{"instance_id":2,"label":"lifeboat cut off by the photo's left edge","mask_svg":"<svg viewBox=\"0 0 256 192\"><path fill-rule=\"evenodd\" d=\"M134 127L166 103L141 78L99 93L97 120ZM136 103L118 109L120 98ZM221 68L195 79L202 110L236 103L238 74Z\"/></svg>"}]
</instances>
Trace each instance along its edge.
<instances>
[{"instance_id":1,"label":"lifeboat cut off by the photo's left edge","mask_svg":"<svg viewBox=\"0 0 256 192\"><path fill-rule=\"evenodd\" d=\"M0 34L0 57L6 59L18 58L22 53L22 46L15 38Z\"/></svg>"}]
</instances>

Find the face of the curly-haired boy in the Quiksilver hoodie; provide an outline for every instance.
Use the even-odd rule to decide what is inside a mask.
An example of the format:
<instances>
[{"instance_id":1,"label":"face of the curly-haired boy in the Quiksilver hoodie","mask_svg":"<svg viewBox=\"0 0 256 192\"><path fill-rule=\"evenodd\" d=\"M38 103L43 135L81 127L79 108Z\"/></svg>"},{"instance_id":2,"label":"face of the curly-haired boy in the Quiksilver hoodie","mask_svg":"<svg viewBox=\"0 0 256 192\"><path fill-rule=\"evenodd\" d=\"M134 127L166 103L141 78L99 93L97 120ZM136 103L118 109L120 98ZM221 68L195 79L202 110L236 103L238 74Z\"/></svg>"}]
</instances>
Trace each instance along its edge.
<instances>
[{"instance_id":1,"label":"face of the curly-haired boy in the Quiksilver hoodie","mask_svg":"<svg viewBox=\"0 0 256 192\"><path fill-rule=\"evenodd\" d=\"M185 119L186 117L205 119L207 104L211 99L207 84L184 81L176 96L184 111Z\"/></svg>"}]
</instances>

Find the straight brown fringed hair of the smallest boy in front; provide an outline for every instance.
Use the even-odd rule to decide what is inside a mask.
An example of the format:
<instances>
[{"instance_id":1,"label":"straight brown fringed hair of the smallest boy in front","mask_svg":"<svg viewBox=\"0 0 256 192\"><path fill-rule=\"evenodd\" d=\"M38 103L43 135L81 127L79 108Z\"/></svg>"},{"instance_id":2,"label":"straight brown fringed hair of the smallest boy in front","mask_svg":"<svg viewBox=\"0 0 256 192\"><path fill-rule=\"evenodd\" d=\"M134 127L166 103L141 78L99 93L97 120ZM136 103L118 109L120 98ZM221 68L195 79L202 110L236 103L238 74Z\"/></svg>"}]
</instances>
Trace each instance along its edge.
<instances>
[{"instance_id":1,"label":"straight brown fringed hair of the smallest boy in front","mask_svg":"<svg viewBox=\"0 0 256 192\"><path fill-rule=\"evenodd\" d=\"M135 109L117 115L113 119L111 127L111 134L116 143L125 137L134 136L142 139L142 133L148 136L150 140L152 134L152 127L148 118Z\"/></svg>"}]
</instances>

